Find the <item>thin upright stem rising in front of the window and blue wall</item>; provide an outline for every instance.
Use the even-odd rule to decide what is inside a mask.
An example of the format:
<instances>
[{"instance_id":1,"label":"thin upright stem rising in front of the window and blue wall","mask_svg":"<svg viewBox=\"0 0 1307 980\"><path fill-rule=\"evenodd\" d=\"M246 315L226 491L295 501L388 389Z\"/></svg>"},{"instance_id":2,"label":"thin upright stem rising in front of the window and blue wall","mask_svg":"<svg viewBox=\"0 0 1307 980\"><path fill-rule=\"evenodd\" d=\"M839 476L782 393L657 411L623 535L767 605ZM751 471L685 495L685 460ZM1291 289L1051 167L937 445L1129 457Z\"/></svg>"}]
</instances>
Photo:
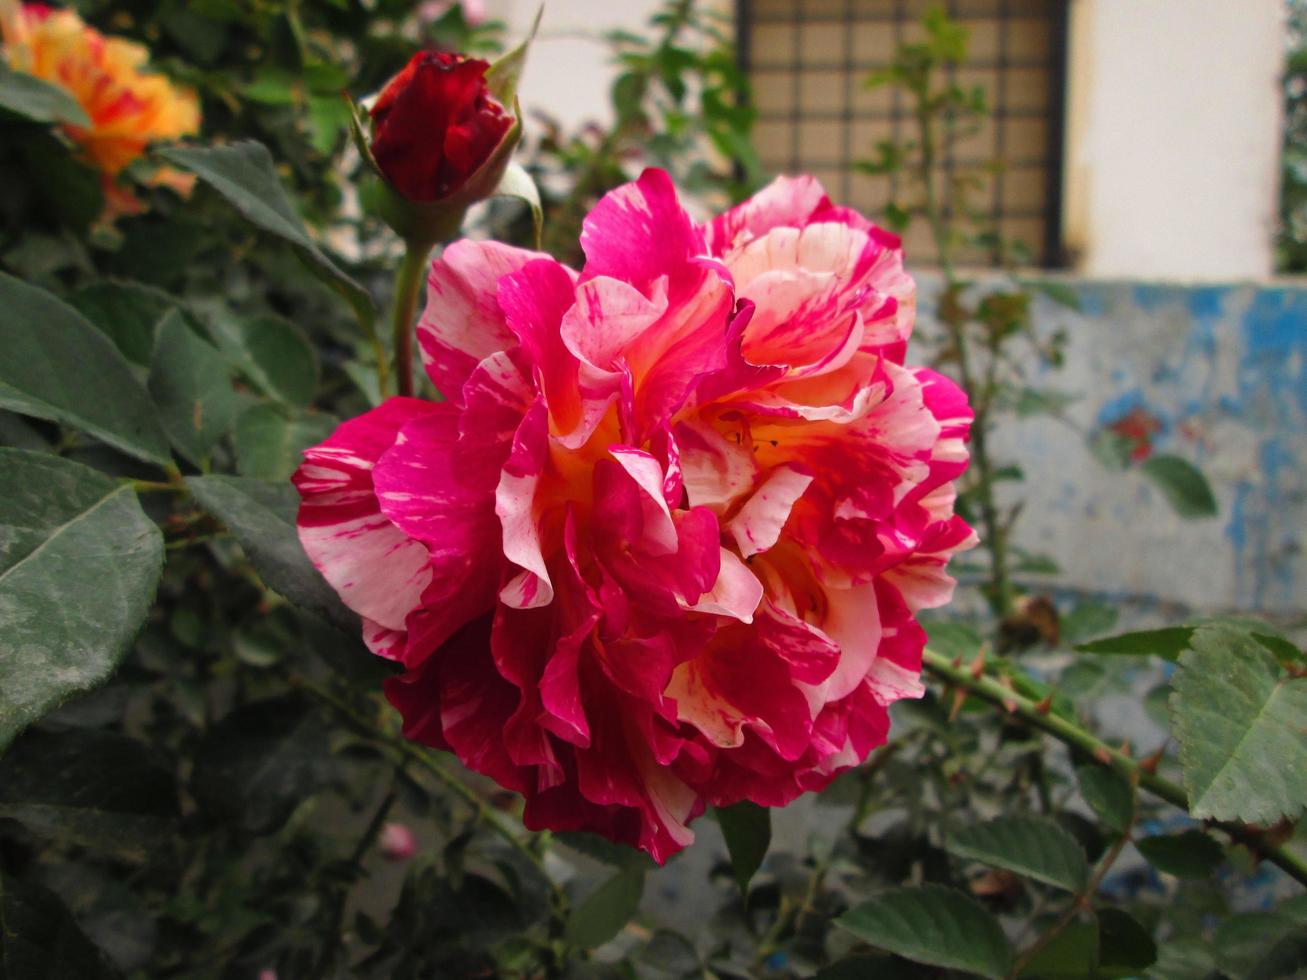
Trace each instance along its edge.
<instances>
[{"instance_id":1,"label":"thin upright stem rising in front of the window and blue wall","mask_svg":"<svg viewBox=\"0 0 1307 980\"><path fill-rule=\"evenodd\" d=\"M935 251L940 261L940 274L944 289L951 291L958 281L953 270L953 243L949 237L948 221L940 206L935 187L936 132L932 110L928 105L928 89L923 86L916 95L916 123L921 150L918 179L924 193L924 212L931 235L935 238ZM945 318L941 318L945 319ZM978 376L971 365L971 349L967 341L966 324L954 318L945 319L949 337L958 357L958 374L962 388L975 406L975 421L971 423L971 465L976 473L976 494L980 500L980 520L984 524L984 545L989 551L989 602L1001 619L1012 612L1012 580L1008 572L1008 536L999 520L999 507L993 499L993 460L989 457L988 426L989 397L978 385Z\"/></svg>"}]
</instances>

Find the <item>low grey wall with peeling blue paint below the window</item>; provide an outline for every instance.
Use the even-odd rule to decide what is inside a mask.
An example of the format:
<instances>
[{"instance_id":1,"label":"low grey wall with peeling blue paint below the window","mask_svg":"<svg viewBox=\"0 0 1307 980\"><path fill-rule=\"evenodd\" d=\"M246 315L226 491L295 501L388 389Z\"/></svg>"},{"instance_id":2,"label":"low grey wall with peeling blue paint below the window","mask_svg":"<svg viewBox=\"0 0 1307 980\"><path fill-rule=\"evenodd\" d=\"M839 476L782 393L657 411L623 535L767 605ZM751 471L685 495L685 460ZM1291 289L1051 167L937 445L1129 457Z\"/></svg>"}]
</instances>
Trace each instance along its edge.
<instances>
[{"instance_id":1,"label":"low grey wall with peeling blue paint below the window","mask_svg":"<svg viewBox=\"0 0 1307 980\"><path fill-rule=\"evenodd\" d=\"M1029 383L1073 396L1068 421L1004 417L995 440L1025 473L1014 542L1057 563L1050 587L1307 613L1307 285L1060 285L1080 310L1040 295L1034 315L1067 332L1067 363ZM1137 466L1104 466L1089 439L1112 427L1200 466L1219 516L1184 520Z\"/></svg>"}]
</instances>

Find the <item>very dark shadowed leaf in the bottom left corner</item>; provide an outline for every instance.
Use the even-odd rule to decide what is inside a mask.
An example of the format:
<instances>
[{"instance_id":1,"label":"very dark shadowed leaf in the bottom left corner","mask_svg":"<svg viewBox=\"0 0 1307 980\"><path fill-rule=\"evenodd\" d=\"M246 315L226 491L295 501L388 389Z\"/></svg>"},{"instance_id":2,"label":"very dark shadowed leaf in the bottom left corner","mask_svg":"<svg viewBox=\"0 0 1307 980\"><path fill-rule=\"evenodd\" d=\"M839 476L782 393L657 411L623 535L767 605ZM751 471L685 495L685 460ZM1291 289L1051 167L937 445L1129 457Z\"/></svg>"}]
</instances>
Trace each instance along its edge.
<instances>
[{"instance_id":1,"label":"very dark shadowed leaf in the bottom left corner","mask_svg":"<svg viewBox=\"0 0 1307 980\"><path fill-rule=\"evenodd\" d=\"M0 980L116 976L58 895L0 874Z\"/></svg>"}]
</instances>

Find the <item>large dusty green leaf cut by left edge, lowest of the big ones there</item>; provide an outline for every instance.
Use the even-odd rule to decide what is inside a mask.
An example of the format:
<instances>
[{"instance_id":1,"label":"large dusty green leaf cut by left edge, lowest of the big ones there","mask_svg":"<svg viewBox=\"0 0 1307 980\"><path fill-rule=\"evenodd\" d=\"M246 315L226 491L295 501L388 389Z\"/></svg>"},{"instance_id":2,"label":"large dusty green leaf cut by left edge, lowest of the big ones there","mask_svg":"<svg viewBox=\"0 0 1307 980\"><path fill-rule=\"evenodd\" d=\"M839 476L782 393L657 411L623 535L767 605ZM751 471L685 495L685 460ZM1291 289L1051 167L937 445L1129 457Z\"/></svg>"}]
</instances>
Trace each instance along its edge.
<instances>
[{"instance_id":1,"label":"large dusty green leaf cut by left edge, lowest of the big ones there","mask_svg":"<svg viewBox=\"0 0 1307 980\"><path fill-rule=\"evenodd\" d=\"M162 534L125 485L0 449L0 749L108 678L162 566Z\"/></svg>"}]
</instances>

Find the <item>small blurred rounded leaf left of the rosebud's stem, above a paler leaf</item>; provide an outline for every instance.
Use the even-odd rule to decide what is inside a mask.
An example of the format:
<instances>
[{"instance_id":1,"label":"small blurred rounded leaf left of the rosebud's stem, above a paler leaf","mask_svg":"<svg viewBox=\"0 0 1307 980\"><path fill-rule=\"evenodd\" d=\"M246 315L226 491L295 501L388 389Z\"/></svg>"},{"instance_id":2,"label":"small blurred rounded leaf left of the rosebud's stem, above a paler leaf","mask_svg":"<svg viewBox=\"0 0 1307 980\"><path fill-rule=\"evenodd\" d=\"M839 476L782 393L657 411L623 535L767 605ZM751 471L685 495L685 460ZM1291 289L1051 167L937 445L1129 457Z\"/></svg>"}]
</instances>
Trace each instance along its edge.
<instances>
[{"instance_id":1,"label":"small blurred rounded leaf left of the rosebud's stem, above a paler leaf","mask_svg":"<svg viewBox=\"0 0 1307 980\"><path fill-rule=\"evenodd\" d=\"M218 350L269 399L305 408L318 391L318 354L289 320L218 316L209 325Z\"/></svg>"}]
</instances>

